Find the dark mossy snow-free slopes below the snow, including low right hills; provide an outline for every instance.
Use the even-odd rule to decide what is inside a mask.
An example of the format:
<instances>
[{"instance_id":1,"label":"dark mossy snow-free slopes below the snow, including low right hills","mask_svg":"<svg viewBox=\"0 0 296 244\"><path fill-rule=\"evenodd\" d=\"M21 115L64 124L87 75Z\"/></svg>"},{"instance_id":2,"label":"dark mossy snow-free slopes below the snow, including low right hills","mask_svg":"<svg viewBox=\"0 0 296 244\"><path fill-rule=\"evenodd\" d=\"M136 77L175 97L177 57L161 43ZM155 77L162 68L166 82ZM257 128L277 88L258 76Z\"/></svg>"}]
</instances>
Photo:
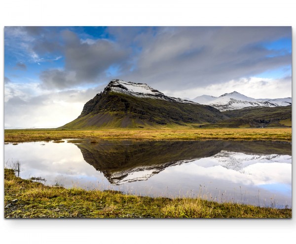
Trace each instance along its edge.
<instances>
[{"instance_id":1,"label":"dark mossy snow-free slopes below the snow, including low right hills","mask_svg":"<svg viewBox=\"0 0 296 244\"><path fill-rule=\"evenodd\" d=\"M72 122L61 129L187 127L287 127L292 106L256 107L221 112L198 103L136 97L105 91L89 100Z\"/></svg>"}]
</instances>

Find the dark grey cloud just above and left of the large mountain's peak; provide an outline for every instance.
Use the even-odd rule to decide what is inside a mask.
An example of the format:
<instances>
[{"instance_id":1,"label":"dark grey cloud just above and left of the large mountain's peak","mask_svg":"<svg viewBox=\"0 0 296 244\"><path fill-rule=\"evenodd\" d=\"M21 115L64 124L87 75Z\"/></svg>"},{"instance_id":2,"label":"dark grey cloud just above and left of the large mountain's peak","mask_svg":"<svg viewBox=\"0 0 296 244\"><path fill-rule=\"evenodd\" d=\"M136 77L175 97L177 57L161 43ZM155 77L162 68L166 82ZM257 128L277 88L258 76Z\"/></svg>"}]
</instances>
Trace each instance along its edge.
<instances>
[{"instance_id":1,"label":"dark grey cloud just above and left of the large mountain's peak","mask_svg":"<svg viewBox=\"0 0 296 244\"><path fill-rule=\"evenodd\" d=\"M111 65L120 66L129 56L129 50L108 40L81 42L71 31L62 33L65 41L64 70L47 70L40 79L46 87L65 88L78 84L93 83L106 77Z\"/></svg>"}]
</instances>

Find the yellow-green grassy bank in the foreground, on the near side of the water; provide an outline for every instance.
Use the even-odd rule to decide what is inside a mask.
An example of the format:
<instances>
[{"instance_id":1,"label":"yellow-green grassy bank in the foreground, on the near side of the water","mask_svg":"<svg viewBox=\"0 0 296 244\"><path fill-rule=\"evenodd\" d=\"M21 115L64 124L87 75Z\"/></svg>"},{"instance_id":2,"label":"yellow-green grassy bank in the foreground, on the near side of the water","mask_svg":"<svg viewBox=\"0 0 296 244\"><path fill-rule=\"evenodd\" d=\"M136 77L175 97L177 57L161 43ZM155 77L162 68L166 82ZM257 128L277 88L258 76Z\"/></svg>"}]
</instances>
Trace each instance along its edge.
<instances>
[{"instance_id":1,"label":"yellow-green grassy bank in the foreground, on the near side of the water","mask_svg":"<svg viewBox=\"0 0 296 244\"><path fill-rule=\"evenodd\" d=\"M5 218L292 218L292 209L44 186L4 170Z\"/></svg>"}]
</instances>

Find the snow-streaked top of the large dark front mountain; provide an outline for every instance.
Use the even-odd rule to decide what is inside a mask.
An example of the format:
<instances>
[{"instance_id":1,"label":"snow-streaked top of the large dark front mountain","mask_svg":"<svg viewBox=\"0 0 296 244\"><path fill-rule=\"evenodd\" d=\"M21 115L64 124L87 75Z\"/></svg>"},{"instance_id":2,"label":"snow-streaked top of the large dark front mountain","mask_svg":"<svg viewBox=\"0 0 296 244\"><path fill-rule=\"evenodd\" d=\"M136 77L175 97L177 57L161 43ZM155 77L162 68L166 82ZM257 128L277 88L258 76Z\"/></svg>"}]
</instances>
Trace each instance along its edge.
<instances>
[{"instance_id":1,"label":"snow-streaked top of the large dark front mountain","mask_svg":"<svg viewBox=\"0 0 296 244\"><path fill-rule=\"evenodd\" d=\"M174 102L180 102L180 103L193 103L192 101L189 101L189 100L166 96L162 92L156 89L153 89L152 87L148 86L148 84L145 84L145 83L134 83L130 81L112 80L105 87L103 93L107 91L124 93L124 94L141 97L141 98L154 98L154 99L162 99L162 100L174 101Z\"/></svg>"}]
</instances>

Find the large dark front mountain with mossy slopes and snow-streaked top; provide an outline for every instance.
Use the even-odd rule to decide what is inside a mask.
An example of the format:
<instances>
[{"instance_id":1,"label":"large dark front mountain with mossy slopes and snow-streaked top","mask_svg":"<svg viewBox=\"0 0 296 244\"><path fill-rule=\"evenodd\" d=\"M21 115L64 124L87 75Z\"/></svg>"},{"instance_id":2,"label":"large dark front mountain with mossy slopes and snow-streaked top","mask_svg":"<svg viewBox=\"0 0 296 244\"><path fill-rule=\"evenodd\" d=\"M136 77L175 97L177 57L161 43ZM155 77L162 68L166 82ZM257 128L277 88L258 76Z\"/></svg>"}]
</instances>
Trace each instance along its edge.
<instances>
[{"instance_id":1,"label":"large dark front mountain with mossy slopes and snow-streaked top","mask_svg":"<svg viewBox=\"0 0 296 244\"><path fill-rule=\"evenodd\" d=\"M227 118L216 108L166 96L147 84L112 80L84 105L77 119L60 128L149 128L215 123Z\"/></svg>"}]
</instances>

